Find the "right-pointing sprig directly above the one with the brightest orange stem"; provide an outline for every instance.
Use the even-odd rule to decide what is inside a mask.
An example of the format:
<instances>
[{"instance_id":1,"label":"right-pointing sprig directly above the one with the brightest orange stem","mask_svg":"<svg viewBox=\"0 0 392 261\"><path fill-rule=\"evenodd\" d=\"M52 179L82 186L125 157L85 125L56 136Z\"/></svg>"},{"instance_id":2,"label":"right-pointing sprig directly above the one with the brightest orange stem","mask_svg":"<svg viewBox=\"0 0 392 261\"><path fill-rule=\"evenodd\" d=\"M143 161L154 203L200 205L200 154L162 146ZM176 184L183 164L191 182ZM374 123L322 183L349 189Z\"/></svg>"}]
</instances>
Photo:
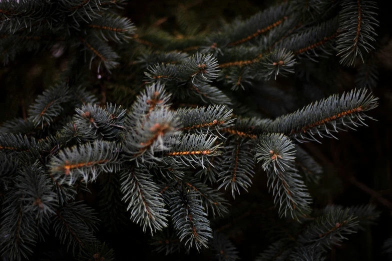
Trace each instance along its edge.
<instances>
[{"instance_id":1,"label":"right-pointing sprig directly above the one with the brightest orange stem","mask_svg":"<svg viewBox=\"0 0 392 261\"><path fill-rule=\"evenodd\" d=\"M203 133L212 132L232 126L232 109L228 110L224 105L214 105L201 108L180 108L176 111L182 124L181 130L195 130ZM212 128L212 130L210 130Z\"/></svg>"}]
</instances>

